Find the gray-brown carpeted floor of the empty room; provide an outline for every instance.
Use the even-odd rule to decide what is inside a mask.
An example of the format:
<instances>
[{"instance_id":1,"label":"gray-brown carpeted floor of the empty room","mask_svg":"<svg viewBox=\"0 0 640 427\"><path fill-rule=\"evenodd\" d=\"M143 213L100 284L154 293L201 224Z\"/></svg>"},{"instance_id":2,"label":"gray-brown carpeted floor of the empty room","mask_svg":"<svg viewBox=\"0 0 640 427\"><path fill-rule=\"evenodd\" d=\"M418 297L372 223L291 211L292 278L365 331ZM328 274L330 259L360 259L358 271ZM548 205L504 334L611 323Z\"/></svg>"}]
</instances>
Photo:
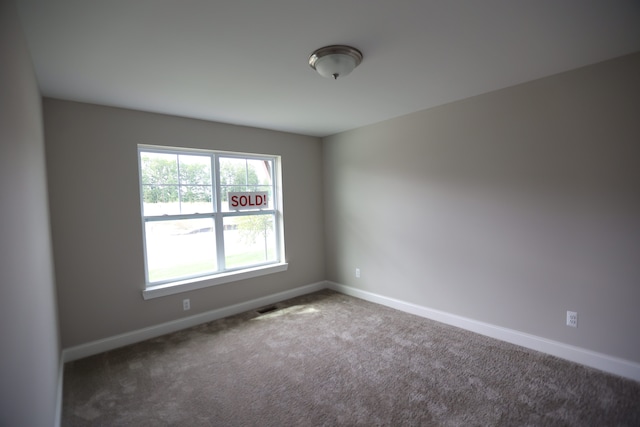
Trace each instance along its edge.
<instances>
[{"instance_id":1,"label":"gray-brown carpeted floor of the empty room","mask_svg":"<svg viewBox=\"0 0 640 427\"><path fill-rule=\"evenodd\" d=\"M67 363L63 426L640 426L640 383L332 291Z\"/></svg>"}]
</instances>

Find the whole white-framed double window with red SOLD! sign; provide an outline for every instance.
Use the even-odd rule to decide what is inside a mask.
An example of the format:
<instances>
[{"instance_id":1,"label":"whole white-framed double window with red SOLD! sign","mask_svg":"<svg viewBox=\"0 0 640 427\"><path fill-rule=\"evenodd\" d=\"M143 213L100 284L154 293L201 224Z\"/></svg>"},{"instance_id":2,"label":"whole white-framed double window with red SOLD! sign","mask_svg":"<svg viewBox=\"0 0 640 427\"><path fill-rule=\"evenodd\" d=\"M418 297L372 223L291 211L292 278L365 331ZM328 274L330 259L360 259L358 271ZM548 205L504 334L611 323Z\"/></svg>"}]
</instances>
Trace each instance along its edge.
<instances>
[{"instance_id":1,"label":"whole white-framed double window with red SOLD! sign","mask_svg":"<svg viewBox=\"0 0 640 427\"><path fill-rule=\"evenodd\" d=\"M150 146L138 153L147 289L238 280L246 275L228 273L282 263L278 157Z\"/></svg>"}]
</instances>

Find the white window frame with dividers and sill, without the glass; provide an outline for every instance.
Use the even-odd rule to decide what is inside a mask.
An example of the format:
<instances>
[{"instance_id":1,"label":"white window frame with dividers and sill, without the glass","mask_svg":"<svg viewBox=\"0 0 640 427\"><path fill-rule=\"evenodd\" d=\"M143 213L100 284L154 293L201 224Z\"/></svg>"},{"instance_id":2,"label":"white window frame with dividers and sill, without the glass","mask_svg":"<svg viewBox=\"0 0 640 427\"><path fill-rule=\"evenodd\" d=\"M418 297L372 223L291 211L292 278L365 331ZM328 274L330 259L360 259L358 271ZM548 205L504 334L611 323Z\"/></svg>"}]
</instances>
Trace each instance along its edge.
<instances>
[{"instance_id":1,"label":"white window frame with dividers and sill, without the glass","mask_svg":"<svg viewBox=\"0 0 640 427\"><path fill-rule=\"evenodd\" d=\"M208 156L211 159L211 175L212 175L212 197L213 197L213 212L201 214L174 214L174 215L161 215L161 216L145 216L144 214L144 192L142 183L142 161L141 153L164 153L164 154L177 154L177 155L199 155ZM223 283L234 282L238 280L245 280L253 277L259 277L266 274L277 273L286 271L288 264L285 261L284 251L284 219L282 214L282 173L281 173L281 159L280 156L255 154L255 153L240 153L240 152L228 152L228 151L214 151L214 150L201 150L192 148L181 147L164 147L164 146L152 146L152 145L138 145L138 188L140 190L140 216L142 219L142 243L144 246L144 272L145 272L145 289L142 292L143 298L151 299L167 295L172 295L180 292L187 292L195 289L201 289L209 286L220 285ZM272 162L272 190L273 190L273 206L269 209L263 209L259 211L222 211L222 201L220 194L220 179L219 179L219 159L225 158L240 158L251 160L268 160ZM272 214L274 216L275 226L275 238L276 238L276 260L267 261L262 264L251 265L250 267L237 267L226 268L225 267L225 254L224 254L224 218L234 216L246 216L246 215L265 215ZM165 281L149 282L149 268L147 264L147 239L146 239L146 223L154 221L168 221L168 220L180 220L180 219L197 219L197 218L212 218L215 223L216 234L216 253L218 271L214 274L206 273L201 275L194 275L188 277L181 277L179 279L170 279Z\"/></svg>"}]
</instances>

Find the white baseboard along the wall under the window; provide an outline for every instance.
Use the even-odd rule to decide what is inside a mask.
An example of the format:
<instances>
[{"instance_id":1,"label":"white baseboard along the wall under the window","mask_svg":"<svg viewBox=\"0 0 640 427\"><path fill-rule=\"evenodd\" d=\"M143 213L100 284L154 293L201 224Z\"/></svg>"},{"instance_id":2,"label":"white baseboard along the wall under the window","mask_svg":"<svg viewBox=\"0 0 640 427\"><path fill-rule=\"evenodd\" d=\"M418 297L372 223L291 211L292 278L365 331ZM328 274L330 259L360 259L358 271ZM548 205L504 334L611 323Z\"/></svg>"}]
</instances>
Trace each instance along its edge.
<instances>
[{"instance_id":1,"label":"white baseboard along the wall under the window","mask_svg":"<svg viewBox=\"0 0 640 427\"><path fill-rule=\"evenodd\" d=\"M81 344L75 347L66 348L62 351L62 360L64 363L82 359L88 356L93 356L94 354L113 350L119 347L124 347L125 345L135 344L140 341L159 337L161 335L176 332L181 329L190 328L202 323L211 322L223 317L253 310L264 305L273 304L289 298L316 292L321 289L325 289L326 287L326 282L313 283L310 285L301 286L299 288L290 289L288 291L267 295L239 304L234 304L228 307L222 307L219 309L207 311L205 313L196 314L194 316L177 319L167 323L161 323L159 325L150 326L148 328L138 329L136 331L131 331L113 337Z\"/></svg>"}]
</instances>

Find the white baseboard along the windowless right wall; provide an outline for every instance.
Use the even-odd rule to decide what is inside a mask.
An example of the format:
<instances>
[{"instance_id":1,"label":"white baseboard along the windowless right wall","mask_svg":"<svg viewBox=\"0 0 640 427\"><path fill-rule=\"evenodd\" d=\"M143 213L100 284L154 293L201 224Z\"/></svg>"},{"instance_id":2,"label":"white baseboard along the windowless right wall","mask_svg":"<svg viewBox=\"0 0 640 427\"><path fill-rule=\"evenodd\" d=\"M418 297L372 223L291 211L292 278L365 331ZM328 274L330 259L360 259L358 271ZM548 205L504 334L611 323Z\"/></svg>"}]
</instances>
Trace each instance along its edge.
<instances>
[{"instance_id":1,"label":"white baseboard along the windowless right wall","mask_svg":"<svg viewBox=\"0 0 640 427\"><path fill-rule=\"evenodd\" d=\"M471 332L526 347L531 350L536 350L542 353L560 357L562 359L579 363L581 365L590 366L601 371L609 372L635 381L640 381L640 364L632 362L630 360L609 356L607 354L598 353L546 338L541 338L513 329L507 329L489 323L479 322L477 320L457 316L455 314L447 313L444 311L422 307L416 304L388 298L350 286L341 285L339 283L327 282L327 287L345 295L350 295L366 301L375 302L377 304L395 308L406 313L426 317L431 320L446 323L448 325L466 329Z\"/></svg>"}]
</instances>

